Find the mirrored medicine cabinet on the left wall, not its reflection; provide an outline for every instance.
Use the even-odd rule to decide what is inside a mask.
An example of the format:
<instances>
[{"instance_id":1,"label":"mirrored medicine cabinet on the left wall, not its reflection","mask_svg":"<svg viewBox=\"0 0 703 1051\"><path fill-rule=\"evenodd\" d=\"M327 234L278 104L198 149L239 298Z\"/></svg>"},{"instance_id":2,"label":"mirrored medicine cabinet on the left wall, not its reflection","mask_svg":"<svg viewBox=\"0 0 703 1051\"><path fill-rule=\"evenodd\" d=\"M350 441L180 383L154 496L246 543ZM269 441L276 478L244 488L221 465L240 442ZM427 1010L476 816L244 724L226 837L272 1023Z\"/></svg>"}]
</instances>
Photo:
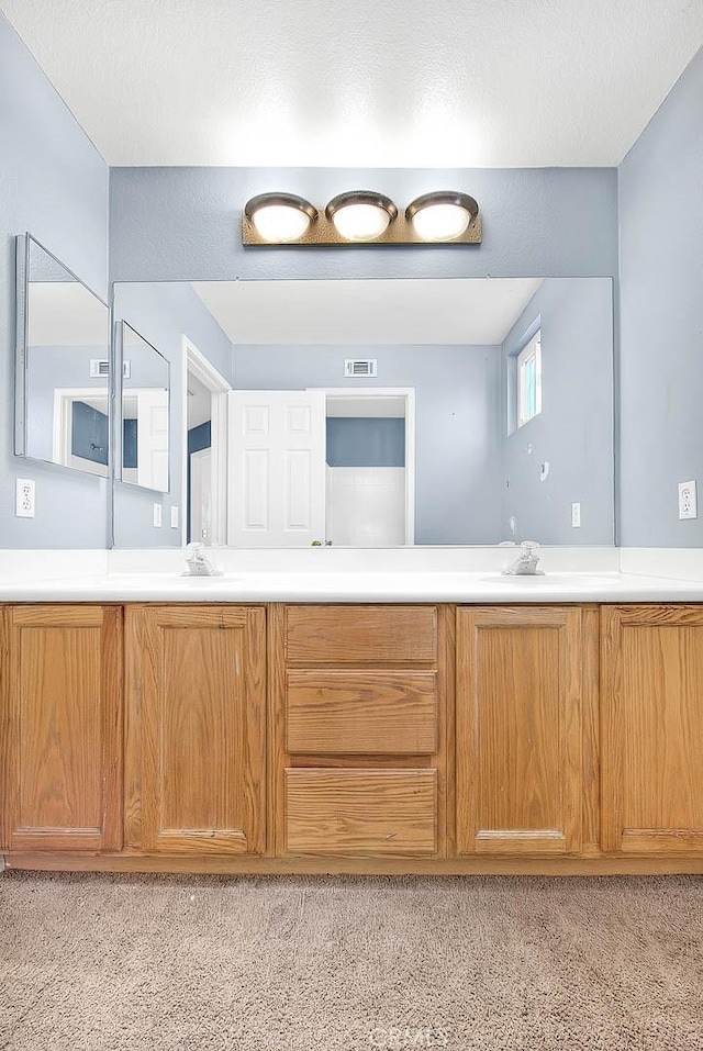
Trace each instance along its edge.
<instances>
[{"instance_id":1,"label":"mirrored medicine cabinet on the left wall, not its reflection","mask_svg":"<svg viewBox=\"0 0 703 1051\"><path fill-rule=\"evenodd\" d=\"M29 234L16 251L15 452L107 477L110 310Z\"/></svg>"}]
</instances>

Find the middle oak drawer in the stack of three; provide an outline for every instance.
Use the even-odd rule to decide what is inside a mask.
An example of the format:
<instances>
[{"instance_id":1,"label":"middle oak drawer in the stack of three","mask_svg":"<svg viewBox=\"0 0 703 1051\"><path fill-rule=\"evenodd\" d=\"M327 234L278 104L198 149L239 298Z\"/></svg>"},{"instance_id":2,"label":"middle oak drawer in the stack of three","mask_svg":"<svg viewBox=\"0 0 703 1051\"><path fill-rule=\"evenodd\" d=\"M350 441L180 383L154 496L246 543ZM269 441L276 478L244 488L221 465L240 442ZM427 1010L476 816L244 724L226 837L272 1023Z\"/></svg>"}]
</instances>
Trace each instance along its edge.
<instances>
[{"instance_id":1,"label":"middle oak drawer in the stack of three","mask_svg":"<svg viewBox=\"0 0 703 1051\"><path fill-rule=\"evenodd\" d=\"M431 754L434 671L312 671L287 677L287 748L299 754Z\"/></svg>"}]
</instances>

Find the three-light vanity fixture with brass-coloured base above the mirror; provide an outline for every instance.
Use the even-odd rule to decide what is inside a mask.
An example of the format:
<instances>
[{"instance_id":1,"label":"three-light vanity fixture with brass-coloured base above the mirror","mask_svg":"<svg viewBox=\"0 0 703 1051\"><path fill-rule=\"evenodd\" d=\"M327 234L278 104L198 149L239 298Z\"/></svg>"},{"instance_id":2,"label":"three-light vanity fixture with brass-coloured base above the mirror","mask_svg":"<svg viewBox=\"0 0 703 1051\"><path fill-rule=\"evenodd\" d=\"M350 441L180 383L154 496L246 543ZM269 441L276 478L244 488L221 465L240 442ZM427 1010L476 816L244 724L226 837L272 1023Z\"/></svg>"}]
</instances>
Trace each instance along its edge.
<instances>
[{"instance_id":1,"label":"three-light vanity fixture with brass-coloured base above the mirror","mask_svg":"<svg viewBox=\"0 0 703 1051\"><path fill-rule=\"evenodd\" d=\"M259 193L242 215L242 244L352 247L354 245L480 245L478 203L458 190L435 190L399 208L384 193L347 190L319 210L293 193Z\"/></svg>"}]
</instances>

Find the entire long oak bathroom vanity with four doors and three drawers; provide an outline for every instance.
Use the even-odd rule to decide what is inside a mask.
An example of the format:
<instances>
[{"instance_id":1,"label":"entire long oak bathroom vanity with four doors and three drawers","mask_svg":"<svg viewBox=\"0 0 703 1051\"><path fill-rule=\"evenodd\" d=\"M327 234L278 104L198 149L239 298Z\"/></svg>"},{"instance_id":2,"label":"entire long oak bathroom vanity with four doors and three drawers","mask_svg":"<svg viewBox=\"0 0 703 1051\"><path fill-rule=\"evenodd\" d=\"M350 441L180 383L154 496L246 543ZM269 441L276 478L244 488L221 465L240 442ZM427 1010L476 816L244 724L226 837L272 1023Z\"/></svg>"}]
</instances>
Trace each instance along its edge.
<instances>
[{"instance_id":1,"label":"entire long oak bathroom vanity with four doors and three drawers","mask_svg":"<svg viewBox=\"0 0 703 1051\"><path fill-rule=\"evenodd\" d=\"M576 578L561 601L480 578L435 602L5 589L5 863L703 873L701 585L613 577L602 602L583 580L580 601Z\"/></svg>"}]
</instances>

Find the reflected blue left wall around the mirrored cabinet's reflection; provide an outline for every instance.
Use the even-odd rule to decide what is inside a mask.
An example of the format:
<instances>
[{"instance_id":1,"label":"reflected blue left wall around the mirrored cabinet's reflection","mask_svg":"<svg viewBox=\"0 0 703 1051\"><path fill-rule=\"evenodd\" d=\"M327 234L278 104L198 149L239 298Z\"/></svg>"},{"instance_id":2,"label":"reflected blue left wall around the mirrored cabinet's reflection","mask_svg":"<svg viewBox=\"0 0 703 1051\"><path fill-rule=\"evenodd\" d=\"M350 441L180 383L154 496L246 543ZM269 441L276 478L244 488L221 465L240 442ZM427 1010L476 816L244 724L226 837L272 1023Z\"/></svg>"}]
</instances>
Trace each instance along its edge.
<instances>
[{"instance_id":1,"label":"reflected blue left wall around the mirrored cabinet's reflection","mask_svg":"<svg viewBox=\"0 0 703 1051\"><path fill-rule=\"evenodd\" d=\"M124 318L170 362L171 443L170 492L154 493L137 485L115 483L114 540L118 547L177 547L186 536L183 477L183 348L191 343L230 380L232 344L202 300L187 283L118 284L115 321ZM154 528L153 504L161 503L163 525ZM170 527L170 508L179 508L180 528ZM182 537L181 537L182 529Z\"/></svg>"}]
</instances>

